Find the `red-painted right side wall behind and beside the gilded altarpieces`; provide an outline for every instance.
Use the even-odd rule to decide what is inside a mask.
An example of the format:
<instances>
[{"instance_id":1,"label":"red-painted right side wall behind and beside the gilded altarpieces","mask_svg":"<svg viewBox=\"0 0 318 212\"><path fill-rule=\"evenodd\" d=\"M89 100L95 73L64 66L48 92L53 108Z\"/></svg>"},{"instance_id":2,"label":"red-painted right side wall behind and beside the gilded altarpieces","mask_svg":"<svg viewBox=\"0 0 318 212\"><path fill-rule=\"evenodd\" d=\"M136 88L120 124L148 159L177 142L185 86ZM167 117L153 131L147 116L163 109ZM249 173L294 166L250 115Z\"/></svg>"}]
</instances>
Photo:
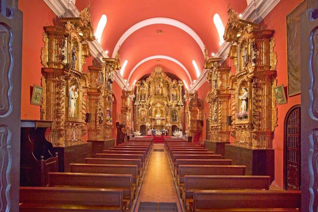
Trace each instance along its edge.
<instances>
[{"instance_id":1,"label":"red-painted right side wall behind and beside the gilded altarpieces","mask_svg":"<svg viewBox=\"0 0 318 212\"><path fill-rule=\"evenodd\" d=\"M281 0L275 8L262 20L260 23L260 29L273 29L275 30L275 47L274 51L277 52L277 84L284 84L285 91L287 86L287 39L286 39L286 16L291 12L302 0ZM225 63L232 67L232 60L226 60ZM208 82L205 82L199 89L199 97L204 100L206 93L210 90L207 87ZM287 95L287 91L286 91ZM294 105L301 104L301 95L295 95L287 97L287 104L278 105L278 126L275 128L273 135L273 149L275 150L275 180L272 185L283 188L283 167L284 167L284 119L287 111ZM209 112L209 105L204 101L204 113ZM207 117L207 116L206 116ZM205 139L205 124L201 136L201 140ZM230 136L230 141L234 138Z\"/></svg>"}]
</instances>

